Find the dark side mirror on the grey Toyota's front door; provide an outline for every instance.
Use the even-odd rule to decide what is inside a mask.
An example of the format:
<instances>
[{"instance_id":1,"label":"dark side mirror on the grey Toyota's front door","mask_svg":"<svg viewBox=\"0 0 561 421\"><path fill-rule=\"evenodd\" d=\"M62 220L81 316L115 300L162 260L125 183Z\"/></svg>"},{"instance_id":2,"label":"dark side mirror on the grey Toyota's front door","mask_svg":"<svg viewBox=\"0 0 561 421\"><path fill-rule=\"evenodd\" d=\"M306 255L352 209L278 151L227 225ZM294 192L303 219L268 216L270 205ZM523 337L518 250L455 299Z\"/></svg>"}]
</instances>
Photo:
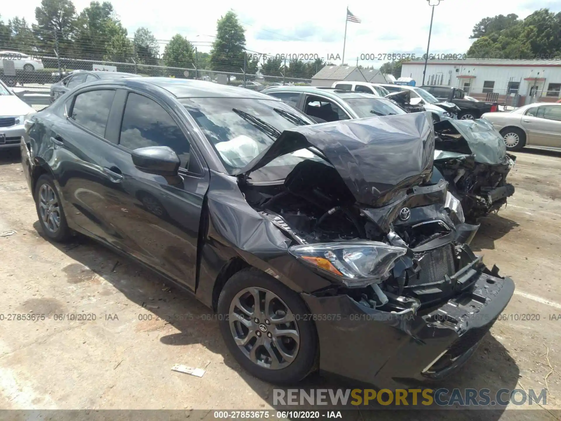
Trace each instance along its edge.
<instances>
[{"instance_id":1,"label":"dark side mirror on the grey Toyota's front door","mask_svg":"<svg viewBox=\"0 0 561 421\"><path fill-rule=\"evenodd\" d=\"M164 177L177 176L180 159L172 148L150 146L132 151L132 163L142 172Z\"/></svg>"}]
</instances>

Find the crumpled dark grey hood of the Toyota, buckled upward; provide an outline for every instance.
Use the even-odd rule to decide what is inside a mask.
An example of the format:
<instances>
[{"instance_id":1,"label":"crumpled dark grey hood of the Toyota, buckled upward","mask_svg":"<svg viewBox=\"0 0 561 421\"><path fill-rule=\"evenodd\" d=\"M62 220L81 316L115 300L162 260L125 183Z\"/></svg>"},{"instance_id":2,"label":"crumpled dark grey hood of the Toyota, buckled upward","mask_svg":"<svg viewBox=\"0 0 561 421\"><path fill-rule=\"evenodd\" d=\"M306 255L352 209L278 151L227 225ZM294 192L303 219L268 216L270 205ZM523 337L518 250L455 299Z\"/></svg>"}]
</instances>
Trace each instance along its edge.
<instances>
[{"instance_id":1,"label":"crumpled dark grey hood of the Toyota, buckled upward","mask_svg":"<svg viewBox=\"0 0 561 421\"><path fill-rule=\"evenodd\" d=\"M297 126L238 174L249 176L277 157L310 147L333 165L357 202L376 205L430 177L434 131L427 112Z\"/></svg>"}]
</instances>

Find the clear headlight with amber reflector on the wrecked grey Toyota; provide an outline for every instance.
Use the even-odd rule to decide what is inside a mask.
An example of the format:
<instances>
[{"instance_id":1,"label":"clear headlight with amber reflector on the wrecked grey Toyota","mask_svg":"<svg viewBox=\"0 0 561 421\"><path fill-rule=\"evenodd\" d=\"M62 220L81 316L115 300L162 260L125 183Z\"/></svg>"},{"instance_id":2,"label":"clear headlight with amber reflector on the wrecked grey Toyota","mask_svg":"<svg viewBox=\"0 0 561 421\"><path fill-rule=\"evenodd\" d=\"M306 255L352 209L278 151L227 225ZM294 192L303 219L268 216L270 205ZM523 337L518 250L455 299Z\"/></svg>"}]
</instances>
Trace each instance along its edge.
<instances>
[{"instance_id":1,"label":"clear headlight with amber reflector on the wrecked grey Toyota","mask_svg":"<svg viewBox=\"0 0 561 421\"><path fill-rule=\"evenodd\" d=\"M407 249L378 241L328 242L292 246L298 260L339 278L348 287L364 287L389 276Z\"/></svg>"}]
</instances>

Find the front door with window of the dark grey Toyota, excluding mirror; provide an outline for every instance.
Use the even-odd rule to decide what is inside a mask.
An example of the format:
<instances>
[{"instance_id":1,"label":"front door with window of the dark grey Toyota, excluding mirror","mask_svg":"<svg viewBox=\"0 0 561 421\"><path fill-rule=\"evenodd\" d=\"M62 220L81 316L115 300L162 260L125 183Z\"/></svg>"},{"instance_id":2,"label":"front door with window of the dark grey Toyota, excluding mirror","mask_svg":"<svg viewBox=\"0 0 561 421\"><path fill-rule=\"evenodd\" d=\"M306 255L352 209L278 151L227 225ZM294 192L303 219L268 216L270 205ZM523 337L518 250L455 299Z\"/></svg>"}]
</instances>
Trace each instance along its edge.
<instances>
[{"instance_id":1,"label":"front door with window of the dark grey Toyota, excluding mirror","mask_svg":"<svg viewBox=\"0 0 561 421\"><path fill-rule=\"evenodd\" d=\"M180 119L155 98L129 92L116 153L107 165L120 175L112 223L119 247L165 275L195 289L199 223L209 175ZM139 171L131 152L168 146L181 159L179 177Z\"/></svg>"}]
</instances>

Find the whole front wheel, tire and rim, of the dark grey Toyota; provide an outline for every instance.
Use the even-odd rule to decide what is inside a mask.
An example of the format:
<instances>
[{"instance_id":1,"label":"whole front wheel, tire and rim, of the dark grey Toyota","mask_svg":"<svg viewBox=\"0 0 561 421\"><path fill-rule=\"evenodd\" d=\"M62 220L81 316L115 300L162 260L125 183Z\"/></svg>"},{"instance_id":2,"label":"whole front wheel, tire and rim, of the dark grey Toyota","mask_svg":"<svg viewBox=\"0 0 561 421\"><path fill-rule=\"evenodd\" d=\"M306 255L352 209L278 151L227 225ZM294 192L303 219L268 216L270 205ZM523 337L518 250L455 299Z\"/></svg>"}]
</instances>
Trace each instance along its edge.
<instances>
[{"instance_id":1,"label":"whole front wheel, tire and rim, of the dark grey Toyota","mask_svg":"<svg viewBox=\"0 0 561 421\"><path fill-rule=\"evenodd\" d=\"M318 338L304 301L255 268L242 269L218 299L220 331L240 365L266 382L293 384L314 368Z\"/></svg>"}]
</instances>

